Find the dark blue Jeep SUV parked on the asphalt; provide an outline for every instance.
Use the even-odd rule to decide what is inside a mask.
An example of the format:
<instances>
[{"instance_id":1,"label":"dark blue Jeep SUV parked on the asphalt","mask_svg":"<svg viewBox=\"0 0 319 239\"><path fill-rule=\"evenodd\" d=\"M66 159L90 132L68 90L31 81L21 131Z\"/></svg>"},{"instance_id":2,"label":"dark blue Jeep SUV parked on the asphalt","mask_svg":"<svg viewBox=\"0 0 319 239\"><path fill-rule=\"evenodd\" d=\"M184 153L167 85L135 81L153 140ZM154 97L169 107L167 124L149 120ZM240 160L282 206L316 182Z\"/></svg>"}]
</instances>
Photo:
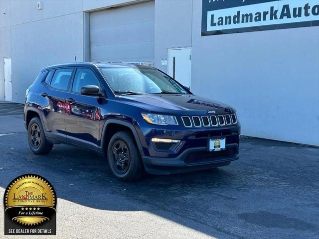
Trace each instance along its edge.
<instances>
[{"instance_id":1,"label":"dark blue Jeep SUV parked on the asphalt","mask_svg":"<svg viewBox=\"0 0 319 239\"><path fill-rule=\"evenodd\" d=\"M26 90L35 154L67 143L105 155L116 178L215 168L239 157L240 125L225 104L194 96L154 67L74 63L41 70Z\"/></svg>"}]
</instances>

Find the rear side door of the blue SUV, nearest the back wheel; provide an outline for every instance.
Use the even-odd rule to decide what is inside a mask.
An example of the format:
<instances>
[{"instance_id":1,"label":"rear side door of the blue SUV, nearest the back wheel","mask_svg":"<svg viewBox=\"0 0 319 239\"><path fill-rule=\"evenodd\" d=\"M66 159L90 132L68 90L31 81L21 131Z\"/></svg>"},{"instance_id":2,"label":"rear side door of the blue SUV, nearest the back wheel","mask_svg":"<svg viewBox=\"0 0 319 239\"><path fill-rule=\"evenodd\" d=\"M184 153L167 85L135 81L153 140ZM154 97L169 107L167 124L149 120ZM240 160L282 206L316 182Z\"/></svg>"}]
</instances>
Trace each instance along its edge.
<instances>
[{"instance_id":1,"label":"rear side door of the blue SUV, nearest the back wheel","mask_svg":"<svg viewBox=\"0 0 319 239\"><path fill-rule=\"evenodd\" d=\"M46 85L38 99L44 113L45 129L50 137L66 140L65 132L65 97L71 83L74 68L59 68L49 71ZM44 106L44 107L43 107Z\"/></svg>"}]
</instances>

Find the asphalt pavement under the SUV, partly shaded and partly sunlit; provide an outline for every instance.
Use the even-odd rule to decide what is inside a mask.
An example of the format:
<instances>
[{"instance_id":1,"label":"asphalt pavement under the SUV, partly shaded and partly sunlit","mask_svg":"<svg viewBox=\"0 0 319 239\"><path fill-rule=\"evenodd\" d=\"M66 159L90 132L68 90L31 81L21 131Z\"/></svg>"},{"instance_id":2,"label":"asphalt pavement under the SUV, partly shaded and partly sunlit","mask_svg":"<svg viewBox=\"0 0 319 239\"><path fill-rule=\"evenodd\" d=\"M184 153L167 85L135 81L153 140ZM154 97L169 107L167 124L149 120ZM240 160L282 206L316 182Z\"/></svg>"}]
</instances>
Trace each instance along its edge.
<instances>
[{"instance_id":1,"label":"asphalt pavement under the SUV, partly shaded and partly sunlit","mask_svg":"<svg viewBox=\"0 0 319 239\"><path fill-rule=\"evenodd\" d=\"M245 137L229 166L124 183L91 151L32 154L22 116L0 125L1 200L18 175L47 178L58 197L50 238L319 239L319 148ZM13 238L3 236L0 205L0 238Z\"/></svg>"}]
</instances>

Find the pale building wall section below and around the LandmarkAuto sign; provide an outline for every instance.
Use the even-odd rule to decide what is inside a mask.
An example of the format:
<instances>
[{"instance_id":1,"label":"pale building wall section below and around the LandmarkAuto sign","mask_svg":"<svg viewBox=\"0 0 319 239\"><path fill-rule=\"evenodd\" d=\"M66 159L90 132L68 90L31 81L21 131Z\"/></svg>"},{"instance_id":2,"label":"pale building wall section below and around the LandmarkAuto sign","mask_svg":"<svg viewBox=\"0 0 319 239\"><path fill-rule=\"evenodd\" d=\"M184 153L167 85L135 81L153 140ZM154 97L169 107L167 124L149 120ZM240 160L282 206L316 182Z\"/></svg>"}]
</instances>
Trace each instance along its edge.
<instances>
[{"instance_id":1,"label":"pale building wall section below and around the LandmarkAuto sign","mask_svg":"<svg viewBox=\"0 0 319 239\"><path fill-rule=\"evenodd\" d=\"M233 106L243 135L319 145L319 26L201 36L201 4L192 91Z\"/></svg>"}]
</instances>

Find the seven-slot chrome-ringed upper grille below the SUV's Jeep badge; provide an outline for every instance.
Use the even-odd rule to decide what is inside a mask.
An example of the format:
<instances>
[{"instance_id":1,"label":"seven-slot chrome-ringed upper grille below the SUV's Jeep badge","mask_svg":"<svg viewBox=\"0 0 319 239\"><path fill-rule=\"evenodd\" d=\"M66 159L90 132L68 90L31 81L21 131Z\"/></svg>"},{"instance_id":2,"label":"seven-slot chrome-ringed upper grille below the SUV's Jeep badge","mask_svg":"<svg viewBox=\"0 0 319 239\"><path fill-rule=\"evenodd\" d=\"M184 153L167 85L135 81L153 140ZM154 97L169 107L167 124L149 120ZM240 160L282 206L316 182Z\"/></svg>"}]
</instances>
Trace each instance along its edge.
<instances>
[{"instance_id":1,"label":"seven-slot chrome-ringed upper grille below the SUV's Jeep badge","mask_svg":"<svg viewBox=\"0 0 319 239\"><path fill-rule=\"evenodd\" d=\"M216 127L237 124L235 114L218 115L218 116L182 116L185 127Z\"/></svg>"}]
</instances>

